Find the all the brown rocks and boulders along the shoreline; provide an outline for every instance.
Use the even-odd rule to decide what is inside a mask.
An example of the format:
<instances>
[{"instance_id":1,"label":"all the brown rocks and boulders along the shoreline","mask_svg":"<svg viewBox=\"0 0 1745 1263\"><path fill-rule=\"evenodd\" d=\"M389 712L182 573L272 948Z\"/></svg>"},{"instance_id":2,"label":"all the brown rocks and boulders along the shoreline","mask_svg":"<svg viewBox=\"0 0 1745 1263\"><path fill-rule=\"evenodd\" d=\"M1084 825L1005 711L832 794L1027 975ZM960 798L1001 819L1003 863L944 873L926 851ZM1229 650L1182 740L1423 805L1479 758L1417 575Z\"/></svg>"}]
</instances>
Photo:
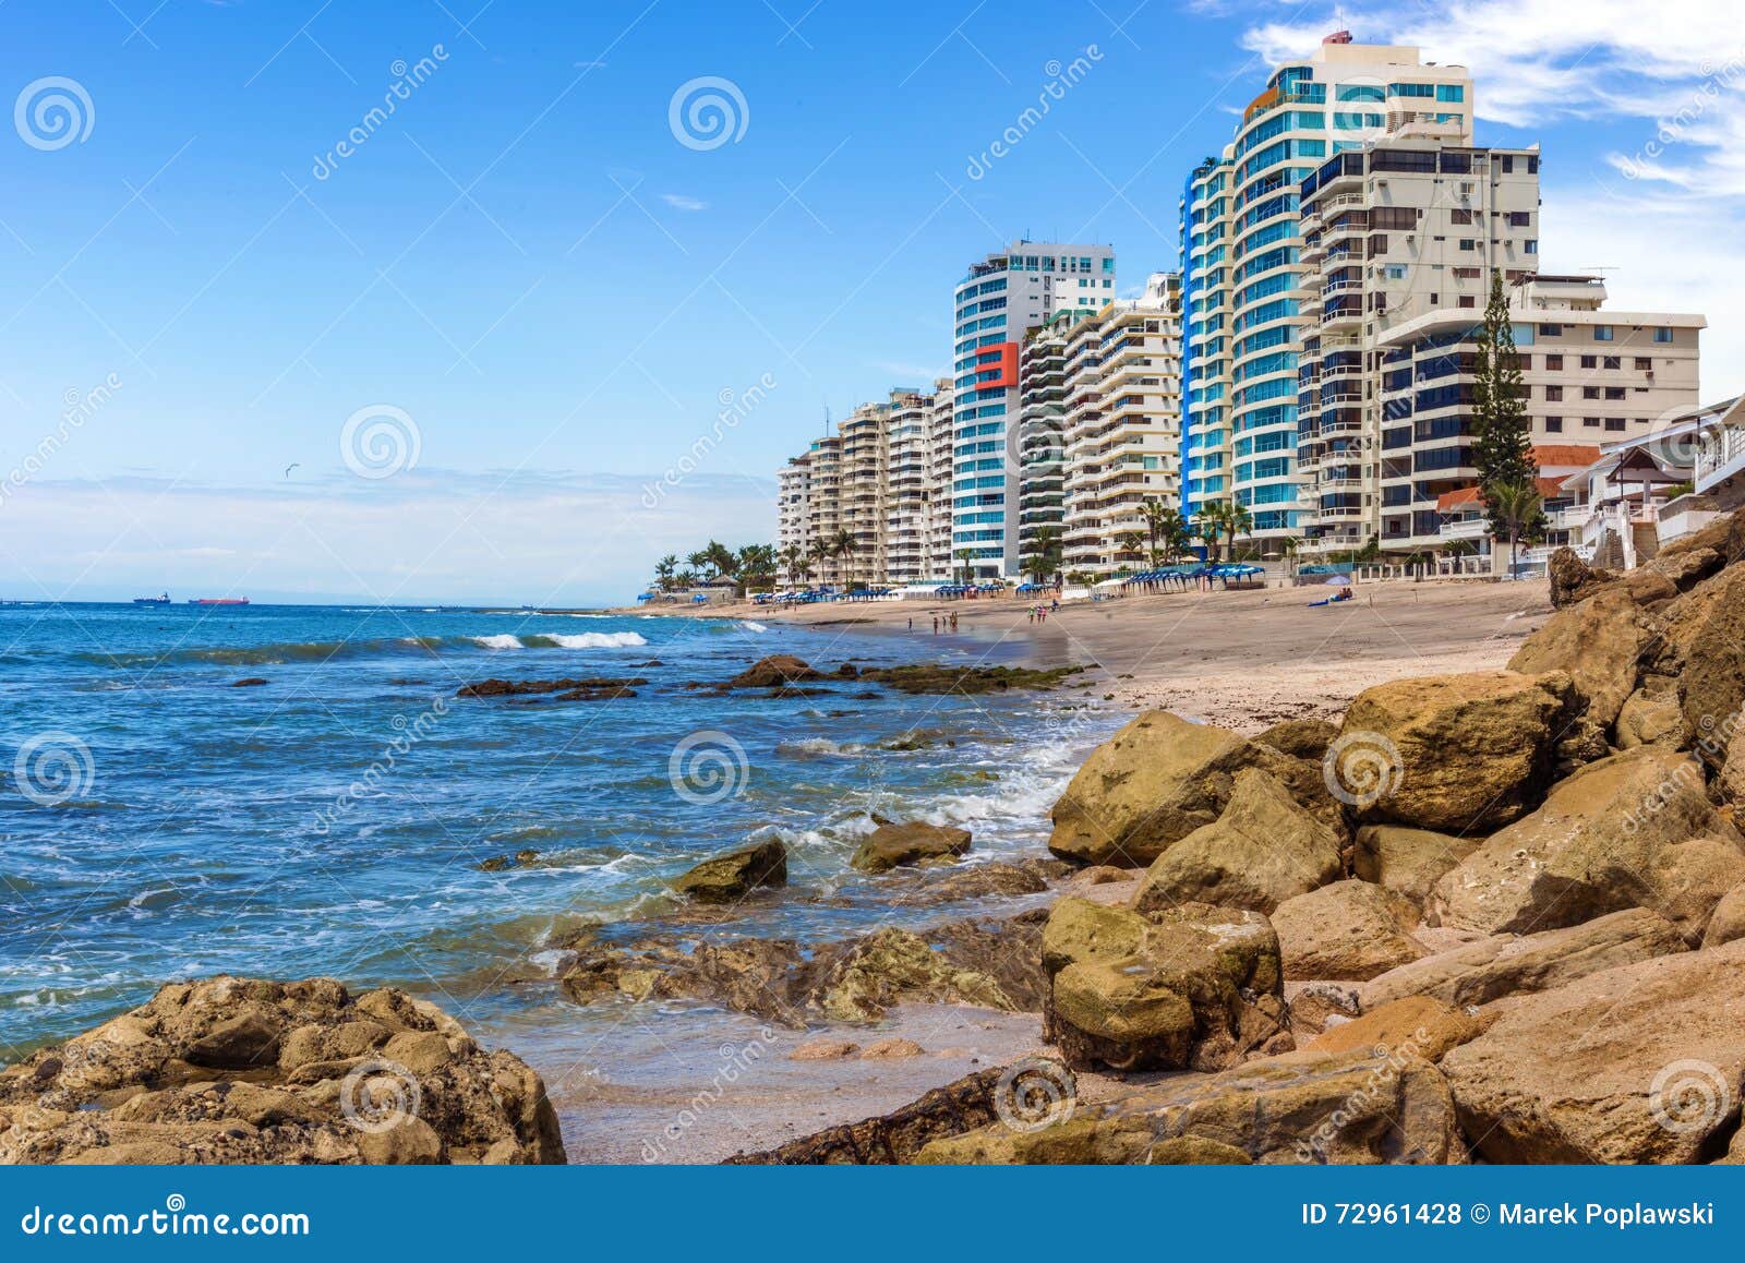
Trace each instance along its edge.
<instances>
[{"instance_id":1,"label":"all the brown rocks and boulders along the shoreline","mask_svg":"<svg viewBox=\"0 0 1745 1263\"><path fill-rule=\"evenodd\" d=\"M560 944L558 987L794 1031L1035 1014L1037 1055L738 1162L1745 1162L1742 555L1745 515L1630 574L1558 555L1557 611L1506 670L1375 684L1337 724L1145 712L1056 802L1049 858L876 822L867 881L972 916L736 933L742 902L787 897L764 843L686 874L688 916ZM710 687L867 675L766 659ZM628 680L527 691L583 686ZM417 1125L354 1125L375 1062ZM564 1157L517 1057L328 980L166 987L0 1073L0 1160Z\"/></svg>"}]
</instances>

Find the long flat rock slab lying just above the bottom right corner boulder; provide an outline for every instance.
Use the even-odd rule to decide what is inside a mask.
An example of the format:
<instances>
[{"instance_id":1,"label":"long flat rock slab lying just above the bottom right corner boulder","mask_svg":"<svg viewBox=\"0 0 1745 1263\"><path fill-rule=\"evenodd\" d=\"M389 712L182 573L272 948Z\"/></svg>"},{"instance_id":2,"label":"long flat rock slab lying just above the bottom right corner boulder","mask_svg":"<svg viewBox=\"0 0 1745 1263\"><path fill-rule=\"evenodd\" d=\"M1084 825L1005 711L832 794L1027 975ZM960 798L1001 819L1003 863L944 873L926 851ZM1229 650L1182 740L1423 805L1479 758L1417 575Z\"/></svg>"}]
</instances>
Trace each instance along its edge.
<instances>
[{"instance_id":1,"label":"long flat rock slab lying just above the bottom right corner boulder","mask_svg":"<svg viewBox=\"0 0 1745 1263\"><path fill-rule=\"evenodd\" d=\"M1633 907L1567 930L1490 935L1461 944L1363 982L1358 996L1365 1012L1408 996L1488 1005L1682 951L1687 951L1684 937L1672 921Z\"/></svg>"}]
</instances>

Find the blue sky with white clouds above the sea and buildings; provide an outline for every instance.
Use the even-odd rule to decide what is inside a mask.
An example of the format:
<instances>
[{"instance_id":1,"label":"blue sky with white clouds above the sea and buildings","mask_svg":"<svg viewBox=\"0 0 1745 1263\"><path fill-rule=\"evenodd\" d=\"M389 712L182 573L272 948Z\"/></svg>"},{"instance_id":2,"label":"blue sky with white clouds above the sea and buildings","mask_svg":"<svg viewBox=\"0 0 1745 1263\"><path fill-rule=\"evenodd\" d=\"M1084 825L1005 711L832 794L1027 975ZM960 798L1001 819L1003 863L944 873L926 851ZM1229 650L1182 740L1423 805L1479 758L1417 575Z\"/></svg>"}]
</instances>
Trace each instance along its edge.
<instances>
[{"instance_id":1,"label":"blue sky with white clouds above the sea and buildings","mask_svg":"<svg viewBox=\"0 0 1745 1263\"><path fill-rule=\"evenodd\" d=\"M52 436L0 495L0 595L599 602L766 541L827 406L948 368L970 258L1174 267L1185 171L1338 26L1473 66L1480 140L1544 145L1544 265L1705 311L1705 396L1745 384L1721 3L154 2L0 7L0 471ZM670 120L698 79L719 145ZM349 468L359 412L415 464Z\"/></svg>"}]
</instances>

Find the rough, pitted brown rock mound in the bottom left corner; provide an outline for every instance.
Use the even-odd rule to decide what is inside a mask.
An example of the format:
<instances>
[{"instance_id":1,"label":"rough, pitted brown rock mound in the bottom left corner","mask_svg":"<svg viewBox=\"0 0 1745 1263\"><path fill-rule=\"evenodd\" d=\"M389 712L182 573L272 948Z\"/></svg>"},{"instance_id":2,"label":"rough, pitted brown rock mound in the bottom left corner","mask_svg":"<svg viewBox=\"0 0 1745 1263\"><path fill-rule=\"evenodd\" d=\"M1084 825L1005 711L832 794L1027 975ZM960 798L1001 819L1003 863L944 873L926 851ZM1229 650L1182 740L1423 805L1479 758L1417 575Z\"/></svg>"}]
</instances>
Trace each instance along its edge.
<instances>
[{"instance_id":1,"label":"rough, pitted brown rock mound in the bottom left corner","mask_svg":"<svg viewBox=\"0 0 1745 1263\"><path fill-rule=\"evenodd\" d=\"M544 1083L403 991L216 977L0 1071L0 1164L564 1162Z\"/></svg>"}]
</instances>

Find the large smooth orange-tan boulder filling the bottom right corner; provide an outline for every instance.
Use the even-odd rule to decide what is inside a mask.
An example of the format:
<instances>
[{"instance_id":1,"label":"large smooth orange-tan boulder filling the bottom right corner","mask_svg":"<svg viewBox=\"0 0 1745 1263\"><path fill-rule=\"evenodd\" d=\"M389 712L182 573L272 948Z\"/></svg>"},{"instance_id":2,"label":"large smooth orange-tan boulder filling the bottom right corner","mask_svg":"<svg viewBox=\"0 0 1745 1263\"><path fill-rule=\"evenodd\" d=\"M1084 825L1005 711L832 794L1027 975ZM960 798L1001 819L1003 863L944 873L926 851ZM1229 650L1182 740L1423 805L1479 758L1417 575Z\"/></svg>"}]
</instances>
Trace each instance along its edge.
<instances>
[{"instance_id":1,"label":"large smooth orange-tan boulder filling the bottom right corner","mask_svg":"<svg viewBox=\"0 0 1745 1263\"><path fill-rule=\"evenodd\" d=\"M1499 1005L1441 1059L1490 1162L1707 1162L1738 1127L1745 942Z\"/></svg>"}]
</instances>

